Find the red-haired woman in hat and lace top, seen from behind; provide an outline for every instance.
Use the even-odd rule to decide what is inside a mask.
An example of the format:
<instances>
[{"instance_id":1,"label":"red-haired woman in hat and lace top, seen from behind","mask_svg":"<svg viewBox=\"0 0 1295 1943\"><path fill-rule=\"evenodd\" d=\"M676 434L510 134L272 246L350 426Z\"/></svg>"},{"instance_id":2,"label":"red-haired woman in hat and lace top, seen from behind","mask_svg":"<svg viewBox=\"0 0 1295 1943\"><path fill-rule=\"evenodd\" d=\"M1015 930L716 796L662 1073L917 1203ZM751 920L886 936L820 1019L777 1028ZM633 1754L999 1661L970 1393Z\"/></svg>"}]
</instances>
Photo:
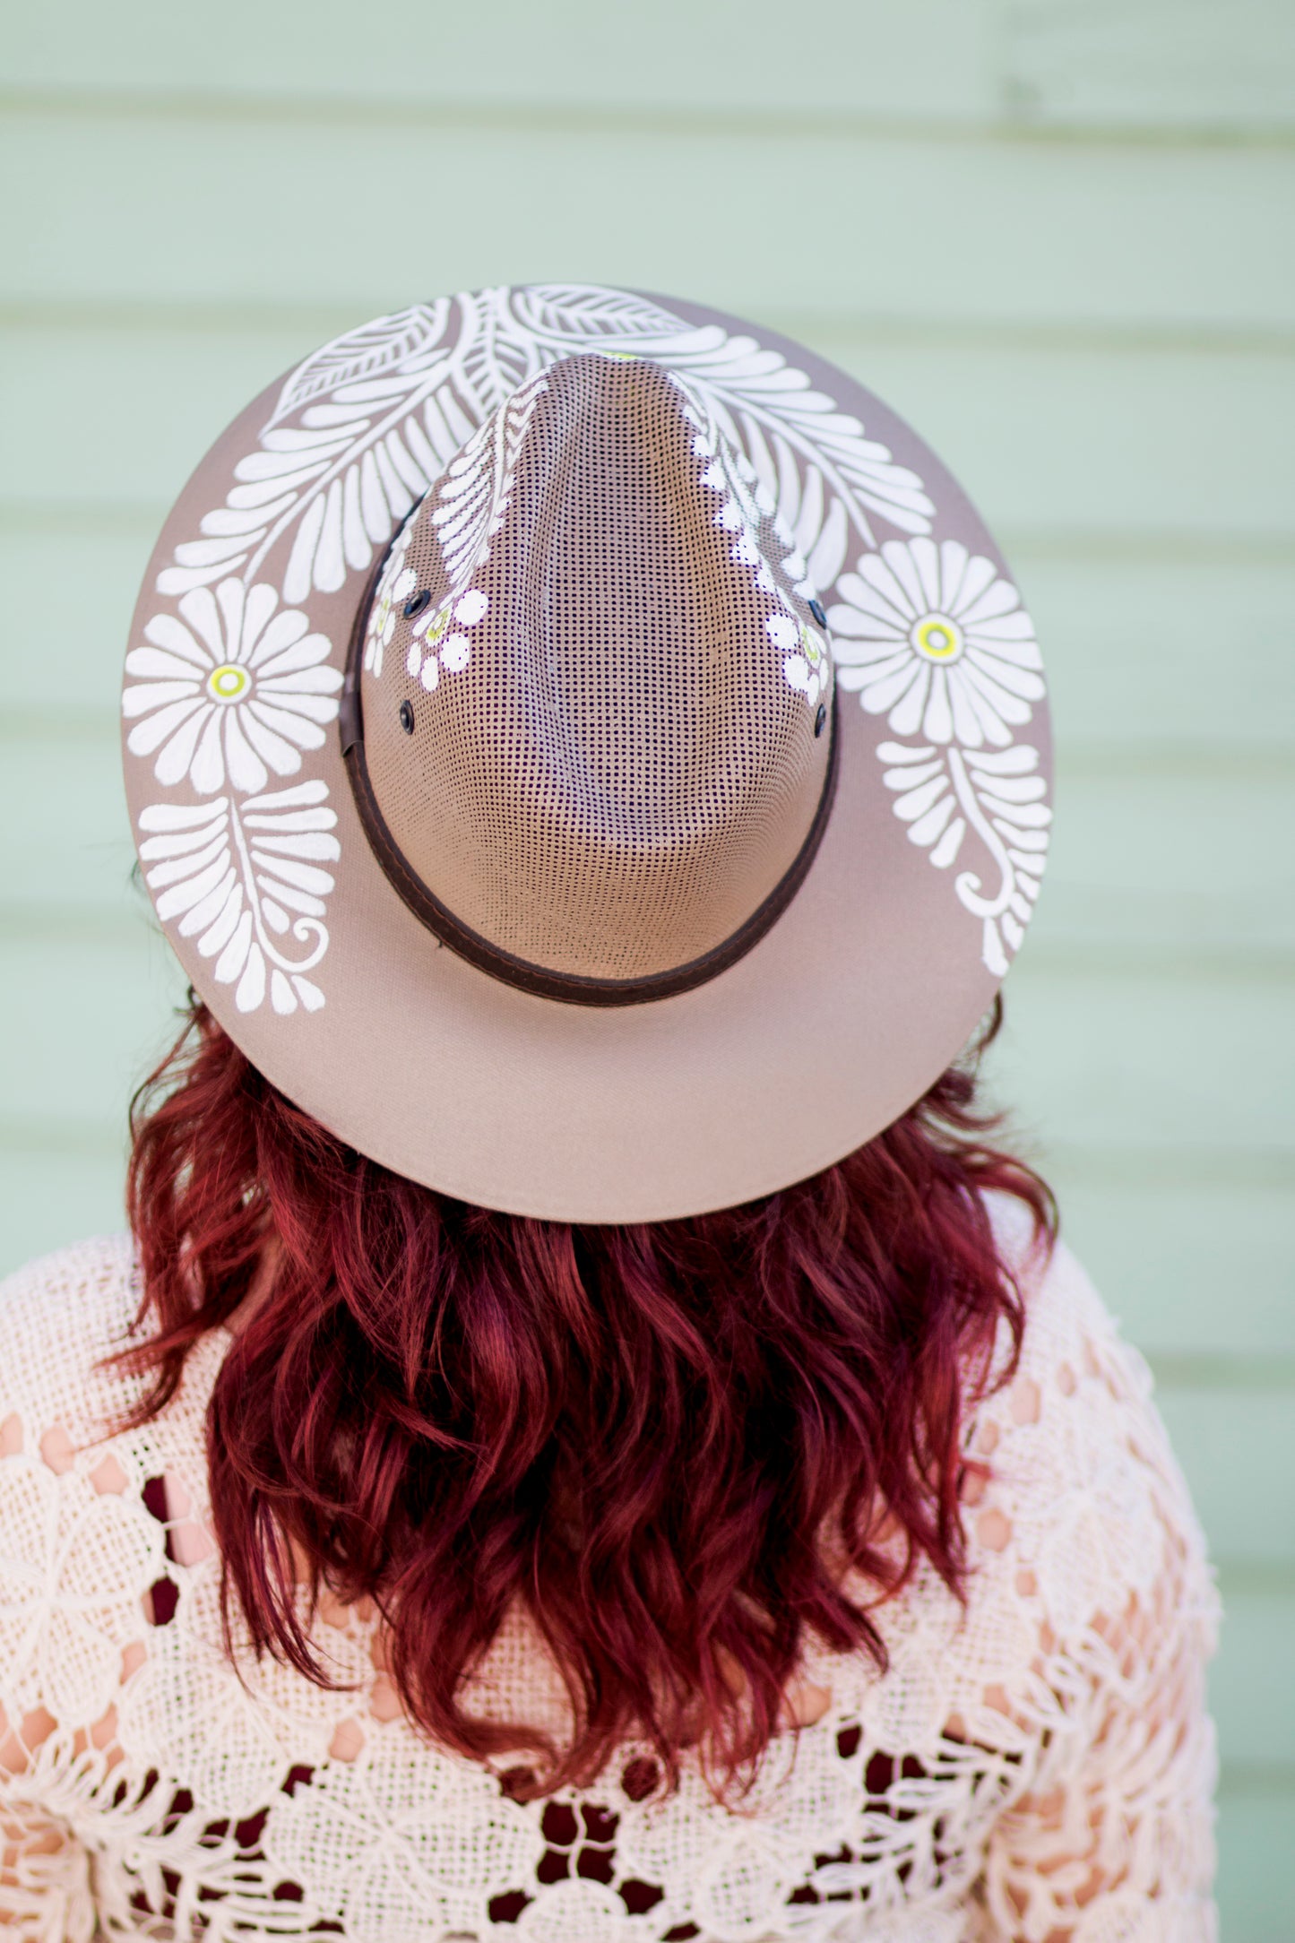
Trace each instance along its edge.
<instances>
[{"instance_id":1,"label":"red-haired woman in hat and lace top, seen from behind","mask_svg":"<svg viewBox=\"0 0 1295 1943\"><path fill-rule=\"evenodd\" d=\"M0 1922L1213 1937L1202 1537L979 1086L1039 668L697 305L414 305L217 441L122 701L190 1003L130 1236L0 1290Z\"/></svg>"}]
</instances>

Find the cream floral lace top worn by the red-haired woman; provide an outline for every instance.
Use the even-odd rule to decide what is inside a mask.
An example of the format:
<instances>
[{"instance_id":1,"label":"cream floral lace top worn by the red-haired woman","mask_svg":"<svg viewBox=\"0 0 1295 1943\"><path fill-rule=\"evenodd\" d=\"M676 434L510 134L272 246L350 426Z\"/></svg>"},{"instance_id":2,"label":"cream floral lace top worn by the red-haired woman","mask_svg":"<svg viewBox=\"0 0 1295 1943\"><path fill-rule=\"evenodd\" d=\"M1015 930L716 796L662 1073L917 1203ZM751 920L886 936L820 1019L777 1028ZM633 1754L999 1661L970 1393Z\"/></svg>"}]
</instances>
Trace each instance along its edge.
<instances>
[{"instance_id":1,"label":"cream floral lace top worn by the red-haired woman","mask_svg":"<svg viewBox=\"0 0 1295 1943\"><path fill-rule=\"evenodd\" d=\"M346 1692L225 1659L204 1407L227 1339L146 1430L95 1370L136 1304L124 1238L0 1284L0 1929L351 1943L1196 1943L1215 1935L1215 1599L1126 1348L1060 1249L1012 1387L969 1426L971 1603L924 1574L889 1671L810 1655L821 1718L744 1811L660 1801L625 1749L516 1803L415 1737L373 1619L316 1620ZM522 1630L481 1706L553 1710ZM6 1931L8 1933L8 1931Z\"/></svg>"}]
</instances>

